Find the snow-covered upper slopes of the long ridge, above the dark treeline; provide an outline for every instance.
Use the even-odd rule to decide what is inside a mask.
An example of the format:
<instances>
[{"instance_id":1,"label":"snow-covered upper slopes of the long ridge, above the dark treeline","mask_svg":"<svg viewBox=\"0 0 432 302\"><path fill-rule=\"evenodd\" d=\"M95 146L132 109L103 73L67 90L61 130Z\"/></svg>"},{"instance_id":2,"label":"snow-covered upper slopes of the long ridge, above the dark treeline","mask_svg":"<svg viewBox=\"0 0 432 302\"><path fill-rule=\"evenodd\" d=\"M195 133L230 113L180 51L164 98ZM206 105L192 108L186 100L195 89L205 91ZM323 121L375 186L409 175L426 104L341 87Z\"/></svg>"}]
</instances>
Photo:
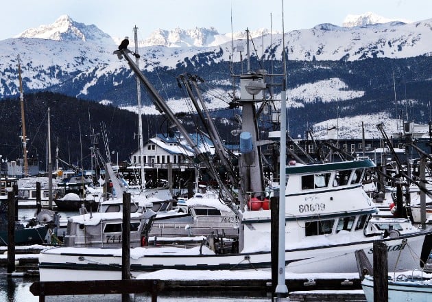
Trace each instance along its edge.
<instances>
[{"instance_id":1,"label":"snow-covered upper slopes of the long ridge, above the dark treeline","mask_svg":"<svg viewBox=\"0 0 432 302\"><path fill-rule=\"evenodd\" d=\"M432 40L432 19L406 25L385 24L348 29L335 25L317 25L311 30L293 31L286 34L289 60L361 60L365 58L407 58L430 56L429 41ZM270 39L276 53L269 51ZM262 49L261 38L254 41L257 55ZM280 58L282 36L274 34L264 36L265 58ZM239 45L245 40L235 41L232 54L231 44L224 43L217 47L141 47L139 52L145 60L144 68L152 71L154 67L176 69L187 64L211 65L215 62L239 60ZM245 48L245 47L244 47ZM40 38L12 38L0 41L0 67L3 81L0 84L2 97L18 93L14 58L21 55L25 85L28 89L48 89L66 81L87 78L92 75L112 75L116 69L128 70L112 55L115 45L86 43L83 40L45 40ZM12 53L11 54L11 49ZM61 56L60 56L61 54ZM256 56L252 54L252 56ZM192 60L195 58L195 60ZM187 63L187 60L189 62ZM205 61L204 61L205 60ZM228 74L227 74L228 76ZM86 93L83 83L82 91ZM115 100L112 100L115 101Z\"/></svg>"}]
</instances>

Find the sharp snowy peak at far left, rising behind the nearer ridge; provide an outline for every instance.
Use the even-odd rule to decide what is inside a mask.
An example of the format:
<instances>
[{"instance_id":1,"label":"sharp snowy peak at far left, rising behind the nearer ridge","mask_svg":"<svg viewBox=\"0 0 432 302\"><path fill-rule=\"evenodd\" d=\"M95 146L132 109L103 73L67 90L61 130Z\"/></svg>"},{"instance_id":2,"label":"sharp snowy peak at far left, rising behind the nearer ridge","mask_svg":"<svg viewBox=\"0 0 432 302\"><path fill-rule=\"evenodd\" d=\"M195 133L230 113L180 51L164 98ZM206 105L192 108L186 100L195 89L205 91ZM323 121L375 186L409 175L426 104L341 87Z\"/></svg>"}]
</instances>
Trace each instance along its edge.
<instances>
[{"instance_id":1,"label":"sharp snowy peak at far left, rising behind the nearer ridge","mask_svg":"<svg viewBox=\"0 0 432 302\"><path fill-rule=\"evenodd\" d=\"M66 14L60 16L50 25L30 28L15 36L15 38L41 38L57 41L81 40L99 44L115 44L110 35L99 30L96 25L75 22Z\"/></svg>"}]
</instances>

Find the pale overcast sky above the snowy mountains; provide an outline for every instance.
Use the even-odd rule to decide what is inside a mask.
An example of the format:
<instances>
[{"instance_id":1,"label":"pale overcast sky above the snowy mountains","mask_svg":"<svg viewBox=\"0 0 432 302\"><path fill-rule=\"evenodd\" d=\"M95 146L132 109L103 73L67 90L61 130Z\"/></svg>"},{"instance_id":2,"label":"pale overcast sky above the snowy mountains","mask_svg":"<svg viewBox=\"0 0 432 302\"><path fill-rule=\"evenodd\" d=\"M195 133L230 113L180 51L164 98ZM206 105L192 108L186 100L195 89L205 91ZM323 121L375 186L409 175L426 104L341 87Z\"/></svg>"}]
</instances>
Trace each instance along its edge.
<instances>
[{"instance_id":1,"label":"pale overcast sky above the snowy mountains","mask_svg":"<svg viewBox=\"0 0 432 302\"><path fill-rule=\"evenodd\" d=\"M431 0L284 0L285 32L320 23L341 25L348 14L374 12L388 19L432 18ZM161 28L215 27L221 33L262 27L282 32L282 0L14 0L1 3L0 40L48 25L62 14L94 24L113 38L139 39ZM272 22L270 21L272 15Z\"/></svg>"}]
</instances>

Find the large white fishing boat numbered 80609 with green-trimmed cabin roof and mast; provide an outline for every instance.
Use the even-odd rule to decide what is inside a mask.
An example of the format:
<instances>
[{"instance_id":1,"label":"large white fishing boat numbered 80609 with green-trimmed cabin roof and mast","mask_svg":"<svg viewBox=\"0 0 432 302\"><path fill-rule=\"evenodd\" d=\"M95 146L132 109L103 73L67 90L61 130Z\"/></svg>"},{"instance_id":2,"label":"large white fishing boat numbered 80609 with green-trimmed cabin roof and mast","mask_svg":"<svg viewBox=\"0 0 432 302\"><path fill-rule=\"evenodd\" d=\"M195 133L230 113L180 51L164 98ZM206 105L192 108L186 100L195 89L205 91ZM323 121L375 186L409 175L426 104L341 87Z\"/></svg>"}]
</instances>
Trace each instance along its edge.
<instances>
[{"instance_id":1,"label":"large white fishing boat numbered 80609 with green-trimmed cabin roof and mast","mask_svg":"<svg viewBox=\"0 0 432 302\"><path fill-rule=\"evenodd\" d=\"M185 132L171 109L129 57L128 49L118 51L158 108L163 110L181 132ZM258 137L257 116L267 88L264 72L240 76L243 151L239 159L241 188L235 197L219 182L219 199L239 218L238 251L217 254L205 246L195 248L132 248L131 272L134 277L160 269L182 270L256 270L272 266L272 209L265 196L280 195L285 202L285 265L289 272L357 272L355 251L363 250L372 261L373 242L388 246L388 265L409 269L429 257L432 231L366 233L370 217L378 211L363 191L365 170L374 167L369 159L339 163L285 166L286 189L268 189L264 184L261 151L265 141ZM193 143L191 143L193 146ZM204 159L198 153L197 158ZM203 161L203 163L206 163ZM217 171L206 163L208 171ZM284 179L285 175L282 176ZM283 187L283 186L282 186ZM236 200L239 200L239 205ZM273 259L274 260L274 259ZM40 281L121 279L121 249L51 248L39 255Z\"/></svg>"}]
</instances>

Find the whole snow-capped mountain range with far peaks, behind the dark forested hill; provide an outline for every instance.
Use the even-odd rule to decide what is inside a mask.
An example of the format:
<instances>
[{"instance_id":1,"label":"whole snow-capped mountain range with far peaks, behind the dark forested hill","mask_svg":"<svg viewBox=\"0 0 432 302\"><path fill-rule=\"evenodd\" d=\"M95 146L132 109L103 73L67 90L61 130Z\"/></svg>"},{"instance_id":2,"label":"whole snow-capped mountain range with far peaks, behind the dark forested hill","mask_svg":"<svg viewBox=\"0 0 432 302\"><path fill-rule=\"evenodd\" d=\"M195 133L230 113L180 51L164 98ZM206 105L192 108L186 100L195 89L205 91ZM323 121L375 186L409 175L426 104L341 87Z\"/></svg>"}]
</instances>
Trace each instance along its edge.
<instances>
[{"instance_id":1,"label":"whole snow-capped mountain range with far peaks, behind the dark forested hill","mask_svg":"<svg viewBox=\"0 0 432 302\"><path fill-rule=\"evenodd\" d=\"M420 82L424 87L432 86L428 83L431 81L428 58L432 54L432 19L407 24L373 23L355 27L321 24L285 34L289 72L296 75L289 80L287 95L290 108L307 111L316 104L324 104L328 113L313 121L324 124L335 117L336 109L331 107L335 102L341 104L341 112L354 108L355 104L350 104L351 107L346 105L355 102L353 100L365 102L364 110L374 111L376 106L373 104L377 98L388 98L377 97L376 91L388 89L389 83L393 83L395 69L398 72L396 76L407 77L405 81L408 84ZM263 32L265 30L251 32L252 38L259 37L254 39L252 47L254 68L261 68L258 58L264 62L280 62L282 57L282 34L263 36ZM220 97L232 91L228 62L237 62L234 72L239 73L241 54L238 50L246 49L244 33L234 34L234 38L232 53L231 34L219 34L215 28L158 30L140 42L140 67L150 78L153 77L156 84L163 83L158 89L163 91L176 111L187 111L187 106L182 105L184 94L178 90L173 75L185 72L202 75L206 84L211 86L206 97L211 102L209 108L228 107L229 100ZM136 104L134 75L124 60L112 54L115 49L117 45L95 25L76 23L68 16L61 16L51 25L27 30L19 38L1 40L0 97L19 94L16 54L20 54L25 93L55 91L104 104L130 106L133 110ZM261 49L264 49L264 54ZM243 60L244 55L243 52ZM380 58L385 60L378 60ZM408 62L409 58L418 59ZM389 59L404 60L392 65L388 63ZM405 94L406 91L410 92L405 89ZM392 94L388 95L391 99ZM423 100L420 98L405 96L400 102L408 104L409 101L409 104L421 106ZM143 105L146 106L145 113L156 113L150 100L145 100ZM418 112L423 117L427 115ZM378 117L388 116L385 112L373 113ZM302 119L310 119L312 115L301 114Z\"/></svg>"}]
</instances>

